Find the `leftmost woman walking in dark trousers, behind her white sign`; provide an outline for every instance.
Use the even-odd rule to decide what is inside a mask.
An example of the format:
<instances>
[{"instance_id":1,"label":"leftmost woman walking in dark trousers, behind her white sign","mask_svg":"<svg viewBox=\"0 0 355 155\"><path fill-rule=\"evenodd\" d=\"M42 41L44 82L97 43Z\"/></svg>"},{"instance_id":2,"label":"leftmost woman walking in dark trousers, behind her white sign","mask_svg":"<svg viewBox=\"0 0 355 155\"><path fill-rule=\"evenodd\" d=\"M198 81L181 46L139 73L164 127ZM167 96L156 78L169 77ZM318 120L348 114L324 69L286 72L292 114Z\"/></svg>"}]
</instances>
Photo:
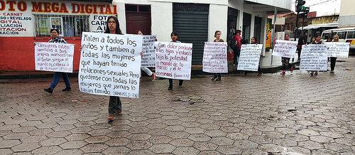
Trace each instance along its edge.
<instances>
[{"instance_id":1,"label":"leftmost woman walking in dark trousers, behind her white sign","mask_svg":"<svg viewBox=\"0 0 355 155\"><path fill-rule=\"evenodd\" d=\"M48 43L67 43L64 38L61 38L59 36L59 30L58 28L52 28L50 29L50 36L52 37ZM70 82L69 82L69 77L67 76L67 73L62 73L62 72L55 72L53 75L53 80L52 83L48 88L43 89L45 92L48 92L50 94L53 93L53 90L55 86L58 85L58 82L60 80L60 76L62 76L64 83L65 83L65 88L62 90L63 92L65 91L70 91L72 90L72 87L70 87Z\"/></svg>"}]
</instances>

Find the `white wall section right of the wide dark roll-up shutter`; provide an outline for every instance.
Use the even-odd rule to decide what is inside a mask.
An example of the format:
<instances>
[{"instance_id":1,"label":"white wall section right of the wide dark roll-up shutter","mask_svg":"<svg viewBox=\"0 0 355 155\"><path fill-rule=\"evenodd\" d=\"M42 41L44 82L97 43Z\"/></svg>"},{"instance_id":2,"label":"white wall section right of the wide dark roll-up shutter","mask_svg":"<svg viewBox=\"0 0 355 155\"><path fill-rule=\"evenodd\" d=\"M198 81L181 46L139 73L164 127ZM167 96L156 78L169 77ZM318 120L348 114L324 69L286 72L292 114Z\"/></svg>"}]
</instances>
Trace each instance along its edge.
<instances>
[{"instance_id":1,"label":"white wall section right of the wide dark roll-up shutter","mask_svg":"<svg viewBox=\"0 0 355 155\"><path fill-rule=\"evenodd\" d=\"M214 32L221 31L221 38L226 41L227 34L227 12L226 5L209 5L209 19L208 19L208 41L214 41Z\"/></svg>"}]
</instances>

